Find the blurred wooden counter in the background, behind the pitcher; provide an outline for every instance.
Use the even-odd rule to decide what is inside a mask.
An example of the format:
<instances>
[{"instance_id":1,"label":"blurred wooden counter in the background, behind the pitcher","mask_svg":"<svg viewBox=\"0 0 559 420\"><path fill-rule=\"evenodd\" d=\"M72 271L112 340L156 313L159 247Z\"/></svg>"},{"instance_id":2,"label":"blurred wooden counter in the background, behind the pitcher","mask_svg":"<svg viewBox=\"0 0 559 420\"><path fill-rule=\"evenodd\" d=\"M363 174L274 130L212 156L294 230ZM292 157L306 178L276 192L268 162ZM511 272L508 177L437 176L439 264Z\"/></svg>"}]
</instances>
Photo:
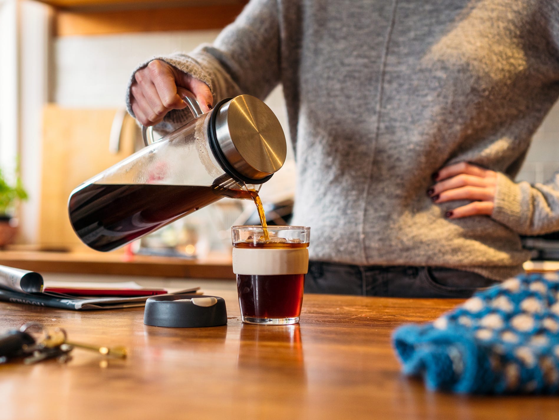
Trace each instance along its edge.
<instances>
[{"instance_id":1,"label":"blurred wooden counter in the background, behind the pitcher","mask_svg":"<svg viewBox=\"0 0 559 420\"><path fill-rule=\"evenodd\" d=\"M0 265L38 273L120 274L127 276L231 278L231 255L210 253L205 258L182 259L164 256L100 253L96 251L0 250Z\"/></svg>"}]
</instances>

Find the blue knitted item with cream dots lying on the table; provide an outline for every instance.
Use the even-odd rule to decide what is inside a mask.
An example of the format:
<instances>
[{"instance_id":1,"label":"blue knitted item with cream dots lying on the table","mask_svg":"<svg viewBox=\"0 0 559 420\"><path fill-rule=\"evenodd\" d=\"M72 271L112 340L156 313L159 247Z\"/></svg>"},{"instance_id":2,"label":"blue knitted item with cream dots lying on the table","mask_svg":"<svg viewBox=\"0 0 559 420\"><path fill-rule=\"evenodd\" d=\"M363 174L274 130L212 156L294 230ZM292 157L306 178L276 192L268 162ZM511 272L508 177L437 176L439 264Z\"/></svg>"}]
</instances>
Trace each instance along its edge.
<instances>
[{"instance_id":1,"label":"blue knitted item with cream dots lying on the table","mask_svg":"<svg viewBox=\"0 0 559 420\"><path fill-rule=\"evenodd\" d=\"M433 323L392 336L404 373L430 389L556 394L559 276L529 274L476 293Z\"/></svg>"}]
</instances>

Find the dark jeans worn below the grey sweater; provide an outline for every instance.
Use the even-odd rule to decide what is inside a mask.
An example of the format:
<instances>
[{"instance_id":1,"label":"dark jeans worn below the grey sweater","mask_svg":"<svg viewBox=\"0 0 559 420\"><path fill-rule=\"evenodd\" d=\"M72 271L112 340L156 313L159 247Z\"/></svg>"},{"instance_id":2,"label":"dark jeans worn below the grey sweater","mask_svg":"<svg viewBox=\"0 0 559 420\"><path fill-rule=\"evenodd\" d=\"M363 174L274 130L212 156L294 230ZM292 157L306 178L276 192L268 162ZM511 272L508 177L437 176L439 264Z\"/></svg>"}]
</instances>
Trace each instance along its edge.
<instances>
[{"instance_id":1,"label":"dark jeans worn below the grey sweater","mask_svg":"<svg viewBox=\"0 0 559 420\"><path fill-rule=\"evenodd\" d=\"M385 297L470 297L495 280L439 267L382 267L311 261L305 293Z\"/></svg>"}]
</instances>

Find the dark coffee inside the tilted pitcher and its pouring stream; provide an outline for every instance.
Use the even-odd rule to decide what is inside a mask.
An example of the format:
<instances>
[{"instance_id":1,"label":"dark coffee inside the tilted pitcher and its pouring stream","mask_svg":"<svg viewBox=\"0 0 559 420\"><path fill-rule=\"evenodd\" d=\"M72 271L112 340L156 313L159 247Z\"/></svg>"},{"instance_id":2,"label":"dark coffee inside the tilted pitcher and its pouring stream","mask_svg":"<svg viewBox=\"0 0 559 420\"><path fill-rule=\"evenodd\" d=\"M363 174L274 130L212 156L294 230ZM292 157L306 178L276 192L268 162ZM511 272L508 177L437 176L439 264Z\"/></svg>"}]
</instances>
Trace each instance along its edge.
<instances>
[{"instance_id":1,"label":"dark coffee inside the tilted pitcher and its pouring stream","mask_svg":"<svg viewBox=\"0 0 559 420\"><path fill-rule=\"evenodd\" d=\"M217 184L89 184L72 194L68 212L74 231L86 245L111 251L223 197L254 200L266 226L256 191Z\"/></svg>"}]
</instances>

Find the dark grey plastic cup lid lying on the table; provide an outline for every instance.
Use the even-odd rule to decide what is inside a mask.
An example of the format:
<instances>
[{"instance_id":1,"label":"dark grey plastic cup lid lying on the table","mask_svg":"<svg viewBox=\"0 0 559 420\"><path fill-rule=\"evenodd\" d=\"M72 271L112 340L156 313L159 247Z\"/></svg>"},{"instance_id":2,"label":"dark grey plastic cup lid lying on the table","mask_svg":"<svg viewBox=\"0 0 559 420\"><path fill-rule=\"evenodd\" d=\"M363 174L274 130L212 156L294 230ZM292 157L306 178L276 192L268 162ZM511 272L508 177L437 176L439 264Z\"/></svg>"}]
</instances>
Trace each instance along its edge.
<instances>
[{"instance_id":1,"label":"dark grey plastic cup lid lying on the table","mask_svg":"<svg viewBox=\"0 0 559 420\"><path fill-rule=\"evenodd\" d=\"M153 296L145 302L144 324L180 328L225 325L225 300L219 296Z\"/></svg>"}]
</instances>

